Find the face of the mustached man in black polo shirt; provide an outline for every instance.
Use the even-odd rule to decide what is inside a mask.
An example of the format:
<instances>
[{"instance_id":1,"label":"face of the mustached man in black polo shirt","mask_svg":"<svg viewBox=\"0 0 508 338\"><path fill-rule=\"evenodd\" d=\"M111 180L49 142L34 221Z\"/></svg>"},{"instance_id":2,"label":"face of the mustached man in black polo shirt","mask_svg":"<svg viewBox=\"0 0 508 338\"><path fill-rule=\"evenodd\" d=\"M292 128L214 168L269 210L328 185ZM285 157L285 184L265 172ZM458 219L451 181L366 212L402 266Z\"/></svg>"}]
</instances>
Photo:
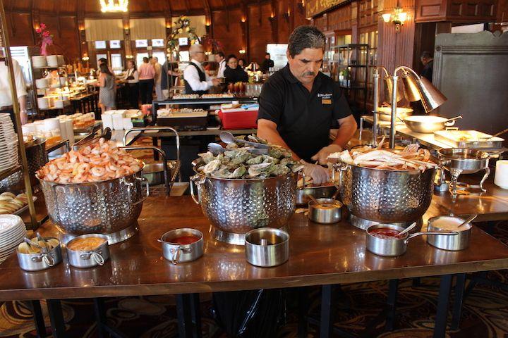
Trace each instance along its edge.
<instances>
[{"instance_id":1,"label":"face of the mustached man in black polo shirt","mask_svg":"<svg viewBox=\"0 0 508 338\"><path fill-rule=\"evenodd\" d=\"M286 52L289 69L298 81L303 84L314 82L321 68L323 51L318 48L306 48L300 54L291 58L289 51Z\"/></svg>"}]
</instances>

